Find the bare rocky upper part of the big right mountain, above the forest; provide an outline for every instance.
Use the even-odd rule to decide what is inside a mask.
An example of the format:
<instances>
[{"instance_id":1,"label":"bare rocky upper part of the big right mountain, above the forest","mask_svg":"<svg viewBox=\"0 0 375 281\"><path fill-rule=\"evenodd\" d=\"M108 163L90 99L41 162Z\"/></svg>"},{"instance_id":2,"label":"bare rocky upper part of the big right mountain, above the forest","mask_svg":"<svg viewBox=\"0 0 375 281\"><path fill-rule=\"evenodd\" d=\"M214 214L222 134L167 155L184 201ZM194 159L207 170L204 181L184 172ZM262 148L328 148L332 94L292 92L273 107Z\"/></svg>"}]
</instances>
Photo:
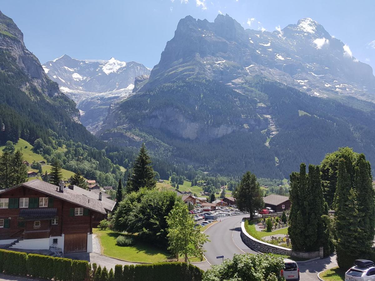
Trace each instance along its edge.
<instances>
[{"instance_id":1,"label":"bare rocky upper part of the big right mountain, above the forest","mask_svg":"<svg viewBox=\"0 0 375 281\"><path fill-rule=\"evenodd\" d=\"M214 22L181 19L146 88L185 78L208 78L243 90L246 77L264 77L320 97L375 101L372 68L322 25L300 19L279 31L244 29L228 15Z\"/></svg>"}]
</instances>

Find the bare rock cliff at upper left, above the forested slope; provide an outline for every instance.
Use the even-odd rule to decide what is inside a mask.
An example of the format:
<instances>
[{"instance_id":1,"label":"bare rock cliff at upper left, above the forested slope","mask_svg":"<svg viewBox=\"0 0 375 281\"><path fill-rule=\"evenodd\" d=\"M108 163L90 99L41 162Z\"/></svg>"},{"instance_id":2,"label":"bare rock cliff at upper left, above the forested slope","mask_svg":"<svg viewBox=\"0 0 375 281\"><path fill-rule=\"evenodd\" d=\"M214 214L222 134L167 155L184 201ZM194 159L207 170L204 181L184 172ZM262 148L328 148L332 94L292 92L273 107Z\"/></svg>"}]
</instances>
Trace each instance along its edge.
<instances>
[{"instance_id":1,"label":"bare rock cliff at upper left, above the forested slope","mask_svg":"<svg viewBox=\"0 0 375 281\"><path fill-rule=\"evenodd\" d=\"M2 12L0 12L0 50L4 58L0 69L10 75L18 71L26 74L28 79L24 79L20 89L28 93L31 100L39 99L39 94L48 96L52 103L63 107L72 120L80 122L75 103L68 102L57 83L48 78L39 60L26 48L21 30ZM37 91L32 90L31 85L35 86Z\"/></svg>"}]
</instances>

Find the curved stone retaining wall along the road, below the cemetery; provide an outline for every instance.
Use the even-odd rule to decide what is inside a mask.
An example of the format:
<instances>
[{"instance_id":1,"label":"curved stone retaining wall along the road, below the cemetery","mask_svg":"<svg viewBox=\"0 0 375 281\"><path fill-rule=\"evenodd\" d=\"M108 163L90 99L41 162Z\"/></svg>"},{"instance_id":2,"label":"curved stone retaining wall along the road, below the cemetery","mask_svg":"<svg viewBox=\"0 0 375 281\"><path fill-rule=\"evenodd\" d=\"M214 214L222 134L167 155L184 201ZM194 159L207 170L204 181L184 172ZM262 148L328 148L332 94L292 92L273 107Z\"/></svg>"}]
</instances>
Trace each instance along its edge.
<instances>
[{"instance_id":1,"label":"curved stone retaining wall along the road, below the cemetery","mask_svg":"<svg viewBox=\"0 0 375 281\"><path fill-rule=\"evenodd\" d=\"M323 247L320 247L320 251L315 252L297 252L293 251L288 248L272 245L258 239L255 239L253 236L249 235L249 233L245 229L245 219L242 219L241 222L241 239L245 243L246 246L253 250L260 251L262 253L272 253L272 254L280 254L280 255L287 255L292 257L300 257L304 259L315 259L320 257L323 259Z\"/></svg>"}]
</instances>

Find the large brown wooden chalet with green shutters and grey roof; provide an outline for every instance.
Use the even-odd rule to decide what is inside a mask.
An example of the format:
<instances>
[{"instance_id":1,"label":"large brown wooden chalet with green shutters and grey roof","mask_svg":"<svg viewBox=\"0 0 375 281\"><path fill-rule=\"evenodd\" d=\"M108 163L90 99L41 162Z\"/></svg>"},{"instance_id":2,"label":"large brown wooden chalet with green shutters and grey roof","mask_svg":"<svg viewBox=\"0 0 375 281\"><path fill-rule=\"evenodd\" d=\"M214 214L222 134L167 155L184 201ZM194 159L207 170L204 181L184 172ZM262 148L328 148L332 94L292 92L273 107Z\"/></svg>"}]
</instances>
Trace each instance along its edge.
<instances>
[{"instance_id":1,"label":"large brown wooden chalet with green shutters and grey roof","mask_svg":"<svg viewBox=\"0 0 375 281\"><path fill-rule=\"evenodd\" d=\"M115 202L80 187L38 179L0 191L0 244L63 253L93 251L92 227Z\"/></svg>"}]
</instances>

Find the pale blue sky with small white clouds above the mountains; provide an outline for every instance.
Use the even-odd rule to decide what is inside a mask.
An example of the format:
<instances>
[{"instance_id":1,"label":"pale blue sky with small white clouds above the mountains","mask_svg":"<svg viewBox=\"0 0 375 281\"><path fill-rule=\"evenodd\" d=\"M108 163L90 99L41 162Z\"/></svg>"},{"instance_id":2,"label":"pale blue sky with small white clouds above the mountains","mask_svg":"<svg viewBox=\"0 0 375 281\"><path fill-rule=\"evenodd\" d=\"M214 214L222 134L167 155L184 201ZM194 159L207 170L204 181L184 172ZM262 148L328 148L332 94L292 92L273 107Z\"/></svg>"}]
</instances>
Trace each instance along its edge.
<instances>
[{"instance_id":1,"label":"pale blue sky with small white clouds above the mountains","mask_svg":"<svg viewBox=\"0 0 375 281\"><path fill-rule=\"evenodd\" d=\"M165 43L186 15L213 21L228 13L245 28L275 30L312 18L375 69L375 1L315 0L3 0L1 11L24 33L27 48L45 63L78 59L159 62ZM251 26L248 20L254 18ZM260 22L260 23L258 23Z\"/></svg>"}]
</instances>

